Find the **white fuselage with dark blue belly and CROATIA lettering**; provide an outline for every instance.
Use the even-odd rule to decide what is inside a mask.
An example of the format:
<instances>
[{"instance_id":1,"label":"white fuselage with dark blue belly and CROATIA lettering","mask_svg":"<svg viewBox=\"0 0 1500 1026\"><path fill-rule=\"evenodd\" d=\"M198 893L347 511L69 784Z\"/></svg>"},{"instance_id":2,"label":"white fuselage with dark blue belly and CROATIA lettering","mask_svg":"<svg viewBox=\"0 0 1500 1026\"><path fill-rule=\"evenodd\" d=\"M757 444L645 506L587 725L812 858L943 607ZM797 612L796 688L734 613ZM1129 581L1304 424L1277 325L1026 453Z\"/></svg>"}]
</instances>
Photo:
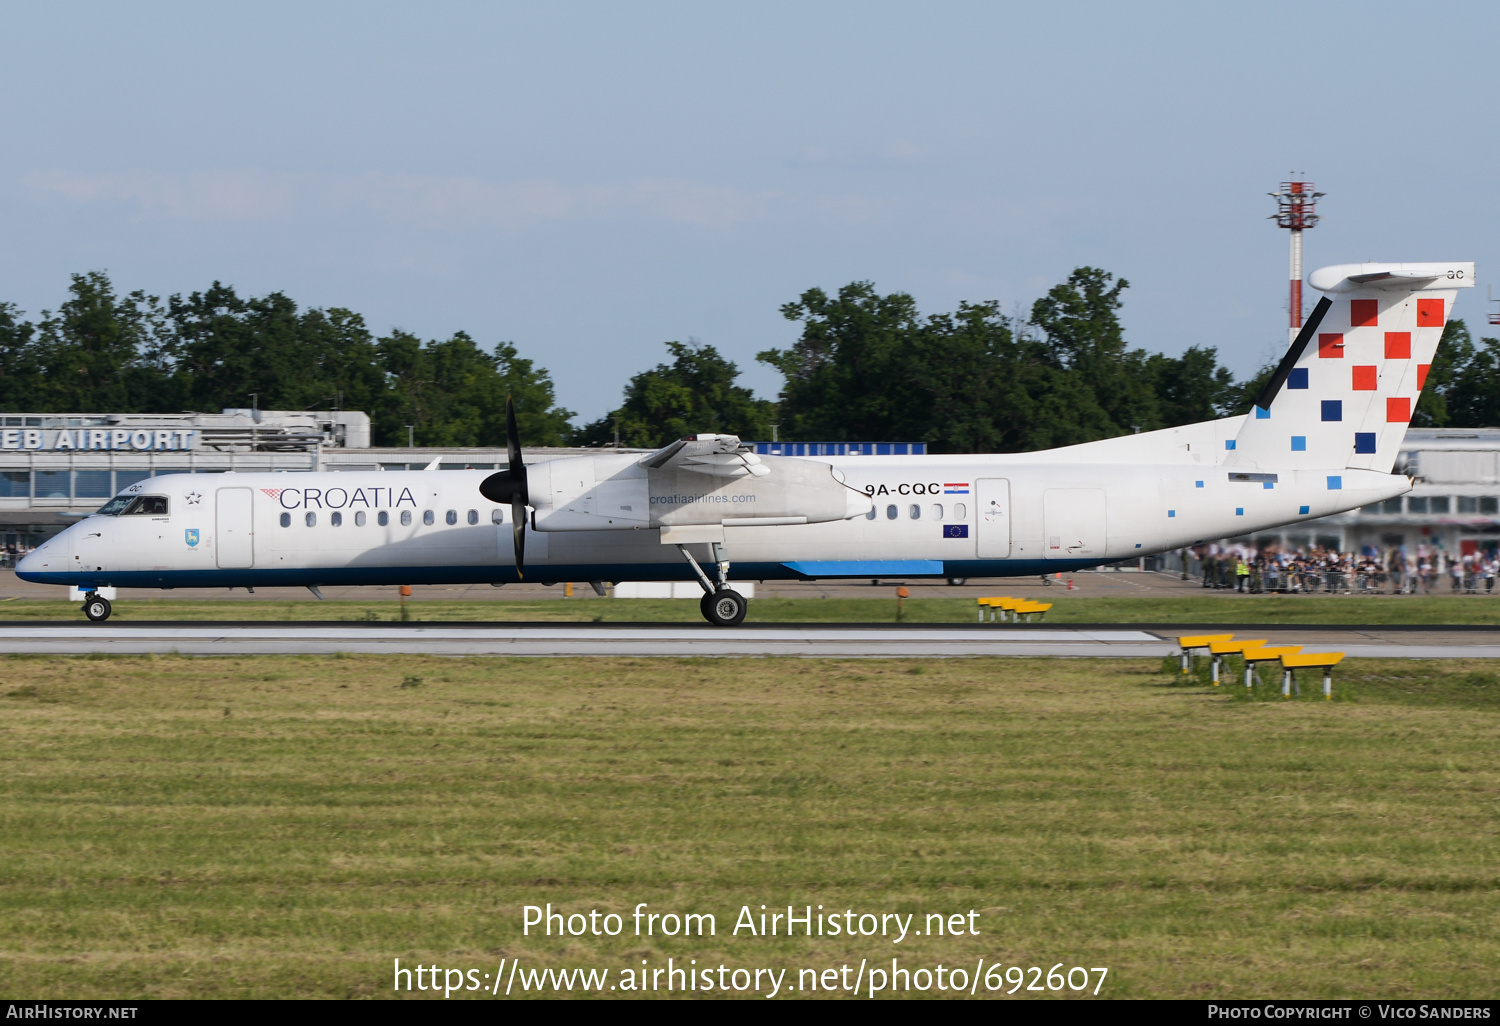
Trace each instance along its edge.
<instances>
[{"instance_id":1,"label":"white fuselage with dark blue belly and CROATIA lettering","mask_svg":"<svg viewBox=\"0 0 1500 1026\"><path fill-rule=\"evenodd\" d=\"M1185 459L1046 456L826 458L818 462L868 495L868 512L824 524L730 524L723 552L746 580L1030 576L1328 516L1410 489L1407 477L1347 468L1248 472ZM84 518L27 555L18 576L84 590L508 584L522 579L510 508L480 494L486 476L154 477L120 498L164 502ZM742 514L742 504L730 512ZM524 579L693 579L663 542L652 528L528 528Z\"/></svg>"}]
</instances>

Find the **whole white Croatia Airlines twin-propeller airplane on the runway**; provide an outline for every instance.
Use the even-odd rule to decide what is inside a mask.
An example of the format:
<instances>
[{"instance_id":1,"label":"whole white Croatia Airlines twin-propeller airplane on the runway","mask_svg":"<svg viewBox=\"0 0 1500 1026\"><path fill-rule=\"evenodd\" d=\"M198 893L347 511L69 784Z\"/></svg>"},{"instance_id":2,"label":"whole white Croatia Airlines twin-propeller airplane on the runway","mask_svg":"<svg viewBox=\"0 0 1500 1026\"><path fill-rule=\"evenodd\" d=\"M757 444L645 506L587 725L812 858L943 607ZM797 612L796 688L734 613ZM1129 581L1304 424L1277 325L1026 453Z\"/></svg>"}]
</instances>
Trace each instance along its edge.
<instances>
[{"instance_id":1,"label":"whole white Croatia Airlines twin-propeller airplane on the runway","mask_svg":"<svg viewBox=\"0 0 1500 1026\"><path fill-rule=\"evenodd\" d=\"M1401 495L1392 474L1474 267L1346 264L1254 408L1038 453L758 456L698 435L642 456L452 472L170 474L130 484L18 576L100 586L692 580L738 624L746 579L1077 570ZM708 568L705 568L705 566Z\"/></svg>"}]
</instances>

